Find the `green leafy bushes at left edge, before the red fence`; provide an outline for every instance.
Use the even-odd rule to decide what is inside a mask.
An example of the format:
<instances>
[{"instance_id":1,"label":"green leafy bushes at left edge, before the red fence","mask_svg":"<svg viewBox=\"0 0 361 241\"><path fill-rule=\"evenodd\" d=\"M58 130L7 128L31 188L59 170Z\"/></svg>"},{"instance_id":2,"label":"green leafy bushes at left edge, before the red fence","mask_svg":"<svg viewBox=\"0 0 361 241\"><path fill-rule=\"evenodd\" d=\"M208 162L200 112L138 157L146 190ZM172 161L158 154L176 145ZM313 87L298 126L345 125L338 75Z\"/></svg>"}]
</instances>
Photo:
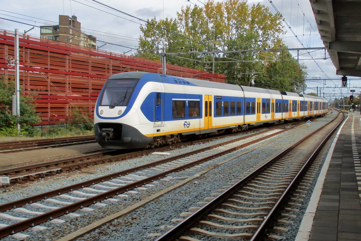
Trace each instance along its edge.
<instances>
[{"instance_id":1,"label":"green leafy bushes at left edge, before the red fence","mask_svg":"<svg viewBox=\"0 0 361 241\"><path fill-rule=\"evenodd\" d=\"M14 80L6 82L4 77L0 77L0 132L5 135L17 135L16 115L12 114L12 95L15 89ZM22 95L20 88L20 117L19 123L21 133L27 136L34 136L36 129L32 124L40 122L40 118L35 114L35 105L32 103L34 97Z\"/></svg>"}]
</instances>

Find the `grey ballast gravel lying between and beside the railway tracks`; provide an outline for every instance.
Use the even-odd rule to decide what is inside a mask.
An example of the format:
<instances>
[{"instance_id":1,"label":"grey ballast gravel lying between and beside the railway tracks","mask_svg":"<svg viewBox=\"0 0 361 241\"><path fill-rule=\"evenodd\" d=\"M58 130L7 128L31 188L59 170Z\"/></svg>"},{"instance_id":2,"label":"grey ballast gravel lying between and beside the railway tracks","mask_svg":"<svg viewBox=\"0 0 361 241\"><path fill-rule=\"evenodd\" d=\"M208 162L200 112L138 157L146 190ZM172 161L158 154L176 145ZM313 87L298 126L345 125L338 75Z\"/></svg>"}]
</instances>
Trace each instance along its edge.
<instances>
[{"instance_id":1,"label":"grey ballast gravel lying between and beside the railway tracks","mask_svg":"<svg viewBox=\"0 0 361 241\"><path fill-rule=\"evenodd\" d=\"M160 198L153 200L152 202L147 203L143 207L137 209L130 214L124 215L119 219L114 220L109 224L105 224L102 227L96 229L93 232L88 233L87 235L79 238L81 241L150 241L155 240L156 237L148 236L150 234L164 233L168 230L169 225L175 225L177 222L172 222L173 219L183 218L180 216L182 212L189 212L190 207L200 206L199 202L204 202L204 198L212 197L212 194L217 193L218 189L223 189L223 187L234 183L234 180L241 179L242 175L245 172L254 170L256 167L260 166L260 163L270 159L270 156L278 153L280 150L287 148L290 143L293 143L301 137L307 135L308 133L316 130L321 127L326 122L329 122L334 115L327 115L324 118L313 119L312 124L307 126L304 124L302 127L297 127L292 130L292 135L288 135L286 138L277 139L281 135L286 135L286 133L281 133L276 135L273 138L273 142L261 146L249 153L236 157L245 150L255 148L262 143L268 143L270 139L264 140L261 143L253 144L246 148L240 149L238 151L232 152L226 156L213 159L212 161L206 162L205 166L201 168L189 168L187 170L171 174L171 177L188 177L197 174L199 171L204 170L206 167L212 166L216 163L230 159L231 157L236 157L218 167L206 172L204 175L201 175L198 179L192 180L189 183L172 190L169 193L164 194ZM296 130L295 130L296 129ZM240 133L240 136L243 134ZM216 143L221 143L226 140L235 139L236 137L224 137L222 139L217 139L212 142L196 144L193 146L186 146L180 149L174 149L169 151L171 156L179 155L182 153L190 152L191 150L196 150L204 148L206 146L214 145ZM16 190L16 186L8 188L10 192L0 194L0 203L9 202L12 200L17 200L23 197L32 196L34 194L47 192L59 187L64 187L74 183L79 183L84 180L89 180L92 178L97 178L99 176L107 175L113 172L118 172L126 170L135 166L143 165L149 162L156 160L164 159L163 155L147 155L141 158L134 158L122 162L115 162L111 164L99 165L96 167L91 167L91 169L96 169L98 172L96 174L88 174L86 176L76 176L80 174L80 171L73 171L68 174L61 174L52 176L50 178L36 181L33 184L29 184L27 188L23 188L20 191ZM136 175L144 175L144 172L139 171L135 173ZM64 223L53 224L50 221L41 224L42 226L47 227L43 231L33 232L31 229L26 229L20 233L30 235L29 240L34 241L50 241L57 240L69 233L75 232L78 229L85 227L101 218L119 212L126 207L131 206L132 204L144 200L145 198L155 194L165 188L168 188L180 180L178 179L161 179L153 183L153 187L147 187L144 190L136 190L138 193L124 193L128 197L122 197L117 202L111 202L108 200L103 200L101 203L107 204L105 207L96 207L95 205L89 206L94 210L92 212L84 212L81 210L75 211L75 213L81 214L78 218L71 218L70 216L62 216L57 219L65 220ZM286 225L285 227L290 229L287 233L283 233L282 236L285 237L285 240L294 240L299 224L301 222L303 212L307 207L307 202L310 194L305 194L304 202L302 202L302 207L299 207L299 212L297 212L297 218L292 220L294 223L292 225ZM73 195L75 196L75 195ZM214 196L214 195L213 195ZM113 197L114 198L114 197ZM69 200L63 200L69 201ZM44 201L41 202L44 205L49 205ZM61 206L56 204L51 204L50 206ZM29 208L30 209L30 208ZM38 208L31 209L32 211L40 211ZM12 212L11 210L9 210ZM42 210L44 211L44 210ZM28 216L29 217L29 216ZM3 220L0 218L0 223L3 223ZM226 224L226 223L225 223ZM194 236L193 237L197 237ZM201 236L198 236L199 238ZM207 238L203 237L203 240ZM16 240L12 236L2 238L1 241L13 241ZM216 240L212 238L212 240ZM221 240L221 239L219 239Z\"/></svg>"}]
</instances>

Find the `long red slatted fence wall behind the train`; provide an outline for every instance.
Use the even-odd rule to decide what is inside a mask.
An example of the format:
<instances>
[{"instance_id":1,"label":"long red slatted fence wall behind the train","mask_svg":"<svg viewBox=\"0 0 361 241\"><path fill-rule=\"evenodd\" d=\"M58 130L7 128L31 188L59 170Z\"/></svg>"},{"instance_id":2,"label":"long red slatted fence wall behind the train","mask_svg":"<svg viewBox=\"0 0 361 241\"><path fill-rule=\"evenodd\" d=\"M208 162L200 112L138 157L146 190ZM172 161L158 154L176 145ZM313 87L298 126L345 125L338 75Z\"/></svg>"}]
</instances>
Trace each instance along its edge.
<instances>
[{"instance_id":1,"label":"long red slatted fence wall behind the train","mask_svg":"<svg viewBox=\"0 0 361 241\"><path fill-rule=\"evenodd\" d=\"M0 75L5 81L15 79L14 67L5 64L8 56L14 57L14 32L0 30ZM157 61L48 39L40 41L25 34L19 37L19 61L23 94L37 95L36 112L43 124L65 122L74 108L81 108L92 118L100 89L112 74L162 73L162 63ZM225 75L175 65L167 65L166 74L225 82Z\"/></svg>"}]
</instances>

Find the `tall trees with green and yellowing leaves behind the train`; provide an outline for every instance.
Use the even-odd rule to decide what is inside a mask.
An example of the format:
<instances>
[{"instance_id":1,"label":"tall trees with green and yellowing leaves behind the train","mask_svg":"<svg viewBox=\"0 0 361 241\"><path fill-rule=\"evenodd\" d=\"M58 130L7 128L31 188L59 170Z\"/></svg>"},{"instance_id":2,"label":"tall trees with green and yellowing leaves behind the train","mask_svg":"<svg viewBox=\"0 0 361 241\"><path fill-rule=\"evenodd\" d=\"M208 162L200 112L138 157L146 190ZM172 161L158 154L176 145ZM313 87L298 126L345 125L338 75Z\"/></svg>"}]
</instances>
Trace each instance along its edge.
<instances>
[{"instance_id":1,"label":"tall trees with green and yellowing leaves behind the train","mask_svg":"<svg viewBox=\"0 0 361 241\"><path fill-rule=\"evenodd\" d=\"M279 39L284 33L281 16L271 13L265 5L208 0L204 6L182 7L177 19L150 19L140 30L143 35L136 53L139 57L158 59L149 50L160 46L166 52L247 51L215 53L214 63L212 55L196 53L181 58L167 56L166 61L206 71L214 69L233 84L299 92L303 87L306 66L298 65L288 51L248 51L287 48Z\"/></svg>"}]
</instances>

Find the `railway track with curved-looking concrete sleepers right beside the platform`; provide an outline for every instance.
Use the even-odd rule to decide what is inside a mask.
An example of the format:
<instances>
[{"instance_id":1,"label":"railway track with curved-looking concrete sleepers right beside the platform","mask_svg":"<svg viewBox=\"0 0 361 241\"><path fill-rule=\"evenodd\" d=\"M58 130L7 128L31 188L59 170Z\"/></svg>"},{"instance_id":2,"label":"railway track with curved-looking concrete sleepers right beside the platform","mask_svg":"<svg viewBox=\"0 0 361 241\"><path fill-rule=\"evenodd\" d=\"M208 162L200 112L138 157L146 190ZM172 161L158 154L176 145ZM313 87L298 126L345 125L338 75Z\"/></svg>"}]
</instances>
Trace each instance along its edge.
<instances>
[{"instance_id":1,"label":"railway track with curved-looking concrete sleepers right beside the platform","mask_svg":"<svg viewBox=\"0 0 361 241\"><path fill-rule=\"evenodd\" d=\"M310 133L231 187L218 190L216 197L200 203L204 204L202 207L193 207L196 211L156 241L282 239L272 234L274 230L282 232L282 227L278 225L288 222L282 219L282 216L287 217L287 211L282 212L281 217L279 211L284 210L284 203L289 200L323 145L342 123L343 115L334 120L335 124L325 125ZM300 193L297 195L302 196Z\"/></svg>"}]
</instances>

